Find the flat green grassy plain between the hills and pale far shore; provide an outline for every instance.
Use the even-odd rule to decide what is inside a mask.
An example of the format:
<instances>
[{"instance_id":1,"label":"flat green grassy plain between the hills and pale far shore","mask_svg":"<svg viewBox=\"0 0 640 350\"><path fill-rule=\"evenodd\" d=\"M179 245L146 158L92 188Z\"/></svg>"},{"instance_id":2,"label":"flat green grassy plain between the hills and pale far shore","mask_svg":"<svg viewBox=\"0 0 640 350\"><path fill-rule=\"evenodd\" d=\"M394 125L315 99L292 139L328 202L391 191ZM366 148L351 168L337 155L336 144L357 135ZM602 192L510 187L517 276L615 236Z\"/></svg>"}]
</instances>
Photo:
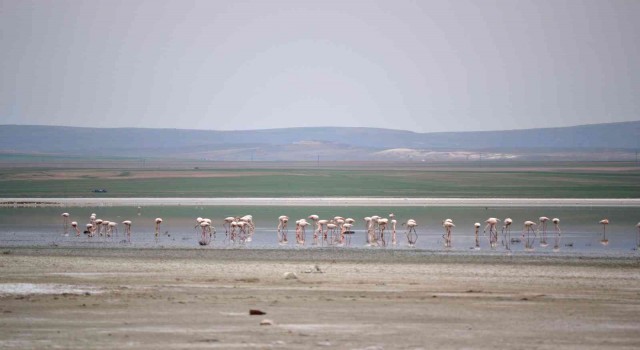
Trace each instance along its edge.
<instances>
[{"instance_id":1,"label":"flat green grassy plain between the hills and pale far shore","mask_svg":"<svg viewBox=\"0 0 640 350\"><path fill-rule=\"evenodd\" d=\"M635 163L189 163L2 167L2 197L640 198ZM161 165L162 164L162 165ZM204 166L203 166L204 165ZM92 193L104 188L107 193Z\"/></svg>"}]
</instances>

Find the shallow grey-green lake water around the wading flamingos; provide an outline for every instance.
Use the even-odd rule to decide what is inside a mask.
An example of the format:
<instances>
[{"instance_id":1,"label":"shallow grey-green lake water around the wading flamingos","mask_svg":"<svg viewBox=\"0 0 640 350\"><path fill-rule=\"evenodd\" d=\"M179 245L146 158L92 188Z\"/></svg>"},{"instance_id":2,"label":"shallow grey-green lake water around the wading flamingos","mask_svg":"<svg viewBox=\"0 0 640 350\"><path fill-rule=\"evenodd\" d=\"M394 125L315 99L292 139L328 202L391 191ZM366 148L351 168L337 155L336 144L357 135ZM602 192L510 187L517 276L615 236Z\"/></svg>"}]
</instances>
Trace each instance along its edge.
<instances>
[{"instance_id":1,"label":"shallow grey-green lake water around the wading flamingos","mask_svg":"<svg viewBox=\"0 0 640 350\"><path fill-rule=\"evenodd\" d=\"M89 222L91 213L103 220L118 223L119 233L114 237L100 236L88 237L81 234L75 236L72 228L65 235L63 228L62 212L70 214L69 221L77 221L81 231ZM378 215L388 216L394 213L398 220L397 245L388 244L386 247L369 247L366 244L366 230L363 218ZM256 224L256 230L251 242L244 244L231 243L225 239L225 229L222 219L227 216L243 216L251 214ZM500 234L498 246L491 249L487 235L482 230L484 221L489 217L497 217L504 220L506 217L513 219L511 237L520 239L521 242L512 243L512 252L524 252L522 237L523 222L525 220L538 221L540 216L560 218L559 250L563 253L584 255L629 255L636 253L638 245L638 228L640 210L635 207L280 207L280 206L101 206L101 207L28 207L28 208L0 208L0 246L16 247L120 247L120 248L201 248L201 249L319 249L311 245L313 228L307 227L306 244L304 246L295 243L295 221L307 218L310 214L317 214L320 218L328 219L334 216L351 217L356 220L355 233L351 235L351 243L348 247L337 249L418 249L428 251L468 252L476 254L475 229L473 224L482 224L479 232L480 251L483 253L504 253L505 248L500 242L503 236ZM289 222L289 243L278 244L276 226L278 216L287 215ZM163 218L160 226L160 234L156 242L155 224L156 217ZM196 217L207 217L213 220L217 234L208 246L200 246L199 228L196 229ZM409 247L406 239L406 228L402 223L407 219L415 219L418 223L418 240L415 247ZM450 218L455 223L452 235L452 247L444 248L442 238L444 229L442 221ZM598 222L608 218L610 224L606 227L608 244L601 244L603 239L603 227ZM128 243L124 237L123 220L131 220L132 235ZM307 219L307 221L310 221ZM502 223L498 225L499 231ZM390 237L388 230L387 237ZM547 247L540 246L540 237L535 240L534 250L526 254L554 254L553 251L555 231L553 223L548 223ZM531 236L533 237L533 236ZM390 243L390 239L387 240Z\"/></svg>"}]
</instances>

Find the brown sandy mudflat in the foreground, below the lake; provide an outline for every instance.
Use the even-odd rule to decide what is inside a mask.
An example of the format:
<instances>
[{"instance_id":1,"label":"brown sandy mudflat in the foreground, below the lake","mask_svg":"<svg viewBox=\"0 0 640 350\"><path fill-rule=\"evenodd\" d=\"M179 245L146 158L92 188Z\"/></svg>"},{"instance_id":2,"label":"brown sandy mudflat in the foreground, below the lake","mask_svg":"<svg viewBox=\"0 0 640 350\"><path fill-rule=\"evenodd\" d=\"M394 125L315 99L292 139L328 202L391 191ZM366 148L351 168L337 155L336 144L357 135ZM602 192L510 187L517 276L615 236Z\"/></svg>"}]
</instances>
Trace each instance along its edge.
<instances>
[{"instance_id":1,"label":"brown sandy mudflat in the foreground, below the lake","mask_svg":"<svg viewBox=\"0 0 640 350\"><path fill-rule=\"evenodd\" d=\"M640 346L635 257L0 252L4 349ZM264 319L273 325L261 326Z\"/></svg>"}]
</instances>

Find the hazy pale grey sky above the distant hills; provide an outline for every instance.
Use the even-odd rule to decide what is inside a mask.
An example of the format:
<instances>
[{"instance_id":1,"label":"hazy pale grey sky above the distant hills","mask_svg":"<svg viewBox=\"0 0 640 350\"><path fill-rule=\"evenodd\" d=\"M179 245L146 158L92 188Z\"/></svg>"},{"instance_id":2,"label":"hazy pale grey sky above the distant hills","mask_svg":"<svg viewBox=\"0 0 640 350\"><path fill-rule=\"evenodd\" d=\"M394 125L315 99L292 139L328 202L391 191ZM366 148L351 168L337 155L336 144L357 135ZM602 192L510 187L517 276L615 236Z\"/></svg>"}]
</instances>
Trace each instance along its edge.
<instances>
[{"instance_id":1,"label":"hazy pale grey sky above the distant hills","mask_svg":"<svg viewBox=\"0 0 640 350\"><path fill-rule=\"evenodd\" d=\"M640 1L0 0L0 124L640 120Z\"/></svg>"}]
</instances>

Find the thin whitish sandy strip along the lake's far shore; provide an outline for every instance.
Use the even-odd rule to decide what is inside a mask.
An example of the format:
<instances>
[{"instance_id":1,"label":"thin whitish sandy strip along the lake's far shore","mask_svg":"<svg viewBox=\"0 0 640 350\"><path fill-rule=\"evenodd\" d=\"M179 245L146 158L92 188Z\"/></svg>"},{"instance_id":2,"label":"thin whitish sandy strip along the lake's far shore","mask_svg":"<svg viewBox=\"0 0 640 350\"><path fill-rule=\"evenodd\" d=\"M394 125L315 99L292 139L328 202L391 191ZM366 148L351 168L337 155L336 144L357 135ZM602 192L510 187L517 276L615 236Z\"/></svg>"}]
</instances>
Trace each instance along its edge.
<instances>
[{"instance_id":1,"label":"thin whitish sandy strip along the lake's far shore","mask_svg":"<svg viewBox=\"0 0 640 350\"><path fill-rule=\"evenodd\" d=\"M465 206L465 207L640 207L640 198L0 198L0 207L45 206Z\"/></svg>"}]
</instances>

